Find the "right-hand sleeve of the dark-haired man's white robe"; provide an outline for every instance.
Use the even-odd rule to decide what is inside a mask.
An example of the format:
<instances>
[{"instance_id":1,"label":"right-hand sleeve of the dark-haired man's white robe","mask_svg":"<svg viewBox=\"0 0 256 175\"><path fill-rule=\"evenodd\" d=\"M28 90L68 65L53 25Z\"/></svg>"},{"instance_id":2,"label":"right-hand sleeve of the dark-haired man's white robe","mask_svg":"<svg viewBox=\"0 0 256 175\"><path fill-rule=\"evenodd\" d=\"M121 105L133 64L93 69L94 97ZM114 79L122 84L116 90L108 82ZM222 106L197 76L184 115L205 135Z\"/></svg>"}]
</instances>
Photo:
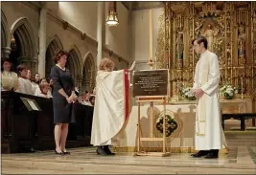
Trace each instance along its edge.
<instances>
[{"instance_id":1,"label":"right-hand sleeve of the dark-haired man's white robe","mask_svg":"<svg viewBox=\"0 0 256 175\"><path fill-rule=\"evenodd\" d=\"M201 90L206 93L208 96L211 96L213 92L218 90L219 82L220 82L220 67L218 56L213 55L210 58L210 70L208 75L208 81L204 85L201 86Z\"/></svg>"}]
</instances>

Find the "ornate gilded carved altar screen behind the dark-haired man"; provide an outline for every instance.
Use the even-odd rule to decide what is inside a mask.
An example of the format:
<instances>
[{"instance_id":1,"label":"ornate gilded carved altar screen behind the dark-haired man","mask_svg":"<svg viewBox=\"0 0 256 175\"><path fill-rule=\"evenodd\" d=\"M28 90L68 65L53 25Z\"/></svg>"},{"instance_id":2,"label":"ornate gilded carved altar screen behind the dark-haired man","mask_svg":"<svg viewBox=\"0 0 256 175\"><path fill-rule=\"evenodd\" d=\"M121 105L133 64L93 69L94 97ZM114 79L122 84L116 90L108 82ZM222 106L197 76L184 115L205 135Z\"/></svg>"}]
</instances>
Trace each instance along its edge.
<instances>
[{"instance_id":1,"label":"ornate gilded carved altar screen behind the dark-haired man","mask_svg":"<svg viewBox=\"0 0 256 175\"><path fill-rule=\"evenodd\" d=\"M165 2L164 59L157 68L170 69L170 98L180 85L192 86L198 55L192 40L203 35L219 56L221 84L244 86L244 96L256 95L256 3ZM160 48L157 48L160 51ZM242 83L243 81L243 83ZM241 95L237 95L240 98Z\"/></svg>"}]
</instances>

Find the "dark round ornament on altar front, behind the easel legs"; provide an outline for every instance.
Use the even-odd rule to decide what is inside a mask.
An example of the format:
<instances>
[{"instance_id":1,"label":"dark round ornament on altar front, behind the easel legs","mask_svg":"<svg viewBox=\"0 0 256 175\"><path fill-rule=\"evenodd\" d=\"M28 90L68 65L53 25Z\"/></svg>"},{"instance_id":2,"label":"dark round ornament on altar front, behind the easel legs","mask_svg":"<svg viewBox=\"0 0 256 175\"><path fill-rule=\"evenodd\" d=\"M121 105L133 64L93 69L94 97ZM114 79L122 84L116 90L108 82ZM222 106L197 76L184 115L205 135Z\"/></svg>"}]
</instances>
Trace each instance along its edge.
<instances>
[{"instance_id":1,"label":"dark round ornament on altar front, behind the easel legs","mask_svg":"<svg viewBox=\"0 0 256 175\"><path fill-rule=\"evenodd\" d=\"M165 122L166 122L166 137L169 137L176 130L177 123L169 115L165 115ZM163 133L163 117L159 117L156 120L156 129L160 131L160 133Z\"/></svg>"}]
</instances>

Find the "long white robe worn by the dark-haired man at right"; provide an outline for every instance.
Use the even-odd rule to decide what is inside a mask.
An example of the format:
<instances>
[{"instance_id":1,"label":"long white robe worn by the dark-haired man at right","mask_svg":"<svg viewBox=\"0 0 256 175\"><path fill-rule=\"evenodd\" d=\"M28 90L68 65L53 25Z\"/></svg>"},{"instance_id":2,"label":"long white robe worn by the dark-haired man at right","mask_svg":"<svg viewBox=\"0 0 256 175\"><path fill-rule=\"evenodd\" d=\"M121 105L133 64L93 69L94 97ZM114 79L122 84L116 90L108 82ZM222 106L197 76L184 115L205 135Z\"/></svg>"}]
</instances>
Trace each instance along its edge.
<instances>
[{"instance_id":1,"label":"long white robe worn by the dark-haired man at right","mask_svg":"<svg viewBox=\"0 0 256 175\"><path fill-rule=\"evenodd\" d=\"M198 98L196 150L223 148L219 99L220 77L218 56L208 50L205 51L198 60L193 86L193 89L201 88L204 92L204 95Z\"/></svg>"}]
</instances>

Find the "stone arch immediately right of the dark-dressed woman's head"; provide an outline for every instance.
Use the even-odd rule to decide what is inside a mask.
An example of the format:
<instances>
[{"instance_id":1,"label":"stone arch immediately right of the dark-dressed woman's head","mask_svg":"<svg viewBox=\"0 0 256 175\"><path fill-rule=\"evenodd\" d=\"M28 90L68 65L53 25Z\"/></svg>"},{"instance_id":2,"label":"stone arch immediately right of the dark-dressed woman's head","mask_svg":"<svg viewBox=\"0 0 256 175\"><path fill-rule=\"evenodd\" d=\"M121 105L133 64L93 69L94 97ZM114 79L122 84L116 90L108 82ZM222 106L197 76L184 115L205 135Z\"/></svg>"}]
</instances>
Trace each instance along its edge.
<instances>
[{"instance_id":1,"label":"stone arch immediately right of the dark-dressed woman's head","mask_svg":"<svg viewBox=\"0 0 256 175\"><path fill-rule=\"evenodd\" d=\"M79 48L76 45L73 45L69 50L69 57L67 58L67 68L70 70L75 85L77 85L81 90L81 54Z\"/></svg>"}]
</instances>

